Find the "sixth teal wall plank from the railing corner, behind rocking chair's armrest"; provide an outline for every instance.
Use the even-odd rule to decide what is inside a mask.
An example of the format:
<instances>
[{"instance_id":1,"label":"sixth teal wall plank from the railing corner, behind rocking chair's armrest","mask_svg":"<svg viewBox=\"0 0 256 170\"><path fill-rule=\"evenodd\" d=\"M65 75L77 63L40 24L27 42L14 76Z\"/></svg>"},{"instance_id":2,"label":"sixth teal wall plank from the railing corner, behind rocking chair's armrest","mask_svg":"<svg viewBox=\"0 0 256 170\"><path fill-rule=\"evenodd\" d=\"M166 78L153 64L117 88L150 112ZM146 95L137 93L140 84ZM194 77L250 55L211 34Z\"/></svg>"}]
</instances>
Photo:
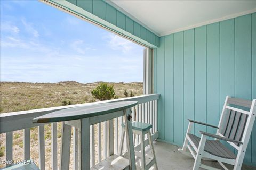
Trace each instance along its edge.
<instances>
[{"instance_id":1,"label":"sixth teal wall plank from the railing corner, behind rocking chair's armrest","mask_svg":"<svg viewBox=\"0 0 256 170\"><path fill-rule=\"evenodd\" d=\"M206 122L219 124L220 113L220 23L206 26L207 32L207 98ZM207 132L216 133L215 128L206 127Z\"/></svg>"}]
</instances>

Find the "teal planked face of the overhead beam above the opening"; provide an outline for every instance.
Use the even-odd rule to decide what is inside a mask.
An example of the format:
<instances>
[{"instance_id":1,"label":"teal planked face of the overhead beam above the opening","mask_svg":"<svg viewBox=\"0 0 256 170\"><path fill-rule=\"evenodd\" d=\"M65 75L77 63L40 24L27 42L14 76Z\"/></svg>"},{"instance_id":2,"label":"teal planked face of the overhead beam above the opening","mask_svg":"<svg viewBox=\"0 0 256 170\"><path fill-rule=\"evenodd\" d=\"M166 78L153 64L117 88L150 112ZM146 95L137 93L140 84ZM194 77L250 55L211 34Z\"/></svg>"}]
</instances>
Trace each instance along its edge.
<instances>
[{"instance_id":1,"label":"teal planked face of the overhead beam above the opening","mask_svg":"<svg viewBox=\"0 0 256 170\"><path fill-rule=\"evenodd\" d=\"M129 32L132 35L142 40L147 41L149 44L159 47L159 37L157 35L149 31L139 23L133 21L131 18L129 18L129 16L126 16L122 12L116 10L116 8L109 5L105 1L102 1L102 0L66 0L66 1L82 8L87 12L92 13L95 16L98 16L99 18L107 21L108 23L113 24L116 27L122 30L125 30L126 32ZM127 37L129 37L129 35ZM134 39L134 40L139 41L137 39Z\"/></svg>"}]
</instances>

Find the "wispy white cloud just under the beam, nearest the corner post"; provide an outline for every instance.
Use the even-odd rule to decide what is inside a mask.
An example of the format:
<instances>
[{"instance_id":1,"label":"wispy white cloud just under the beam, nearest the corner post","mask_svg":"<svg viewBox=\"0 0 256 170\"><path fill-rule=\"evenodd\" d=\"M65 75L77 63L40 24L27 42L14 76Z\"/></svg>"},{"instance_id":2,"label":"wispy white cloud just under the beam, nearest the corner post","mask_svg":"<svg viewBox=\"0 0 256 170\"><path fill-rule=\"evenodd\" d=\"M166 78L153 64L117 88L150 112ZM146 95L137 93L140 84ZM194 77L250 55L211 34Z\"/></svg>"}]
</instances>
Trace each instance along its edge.
<instances>
[{"instance_id":1,"label":"wispy white cloud just under the beam, nearest the corner post","mask_svg":"<svg viewBox=\"0 0 256 170\"><path fill-rule=\"evenodd\" d=\"M133 48L133 43L120 36L109 34L107 37L108 46L114 50L121 50L123 53L129 52Z\"/></svg>"}]
</instances>

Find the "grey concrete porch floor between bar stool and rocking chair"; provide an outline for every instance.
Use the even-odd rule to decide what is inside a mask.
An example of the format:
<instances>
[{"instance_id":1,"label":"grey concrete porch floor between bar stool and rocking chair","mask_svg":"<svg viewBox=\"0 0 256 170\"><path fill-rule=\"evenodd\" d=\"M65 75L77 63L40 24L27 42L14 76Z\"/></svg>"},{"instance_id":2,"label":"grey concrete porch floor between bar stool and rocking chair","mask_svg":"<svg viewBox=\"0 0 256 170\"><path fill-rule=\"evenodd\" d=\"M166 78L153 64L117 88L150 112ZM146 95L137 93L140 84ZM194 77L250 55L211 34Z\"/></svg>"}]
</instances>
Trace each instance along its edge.
<instances>
[{"instance_id":1,"label":"grey concrete porch floor between bar stool and rocking chair","mask_svg":"<svg viewBox=\"0 0 256 170\"><path fill-rule=\"evenodd\" d=\"M154 142L154 148L159 170L188 170L193 168L194 159L181 154L178 151L180 147L171 145L170 143L156 141ZM218 162L203 161L203 164L223 169ZM227 165L227 167L233 169L232 165ZM242 169L256 170L256 167L243 165Z\"/></svg>"}]
</instances>

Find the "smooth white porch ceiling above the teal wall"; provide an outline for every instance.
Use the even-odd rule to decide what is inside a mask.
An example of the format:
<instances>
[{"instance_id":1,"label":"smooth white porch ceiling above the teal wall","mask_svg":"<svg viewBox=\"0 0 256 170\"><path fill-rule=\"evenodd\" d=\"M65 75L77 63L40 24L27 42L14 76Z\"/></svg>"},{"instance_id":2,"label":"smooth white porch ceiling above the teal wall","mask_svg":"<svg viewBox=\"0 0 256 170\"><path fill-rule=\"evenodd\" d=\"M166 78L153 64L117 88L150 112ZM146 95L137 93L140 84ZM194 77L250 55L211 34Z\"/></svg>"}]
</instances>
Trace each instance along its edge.
<instances>
[{"instance_id":1,"label":"smooth white porch ceiling above the teal wall","mask_svg":"<svg viewBox=\"0 0 256 170\"><path fill-rule=\"evenodd\" d=\"M256 12L256 1L119 1L121 8L160 36Z\"/></svg>"}]
</instances>

